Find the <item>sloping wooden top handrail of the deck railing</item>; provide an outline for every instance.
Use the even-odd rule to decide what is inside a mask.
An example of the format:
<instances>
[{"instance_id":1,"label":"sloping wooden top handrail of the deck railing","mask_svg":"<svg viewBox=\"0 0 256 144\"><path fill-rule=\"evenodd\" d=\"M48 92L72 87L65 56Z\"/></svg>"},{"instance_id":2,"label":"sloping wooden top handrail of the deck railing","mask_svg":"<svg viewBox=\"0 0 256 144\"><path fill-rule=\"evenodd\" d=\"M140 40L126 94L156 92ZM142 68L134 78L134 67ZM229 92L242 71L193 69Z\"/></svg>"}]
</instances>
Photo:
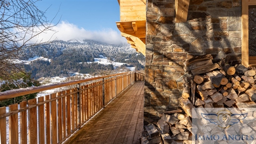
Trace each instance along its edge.
<instances>
[{"instance_id":1,"label":"sloping wooden top handrail of the deck railing","mask_svg":"<svg viewBox=\"0 0 256 144\"><path fill-rule=\"evenodd\" d=\"M40 92L40 91L45 91L45 90L49 90L49 89L84 83L84 82L88 82L91 80L112 77L112 76L117 76L117 75L123 75L126 73L132 73L132 72L117 73L117 74L112 74L112 75L99 76L99 77L87 78L87 79L70 81L70 82L62 82L62 83L56 83L56 84L49 84L49 85L43 85L43 86L32 86L32 87L28 87L28 88L7 90L4 92L0 92L0 100L13 98L13 97L17 97L17 96L22 96L22 95L26 95L26 94L31 94L31 93L36 93L36 92Z\"/></svg>"}]
</instances>

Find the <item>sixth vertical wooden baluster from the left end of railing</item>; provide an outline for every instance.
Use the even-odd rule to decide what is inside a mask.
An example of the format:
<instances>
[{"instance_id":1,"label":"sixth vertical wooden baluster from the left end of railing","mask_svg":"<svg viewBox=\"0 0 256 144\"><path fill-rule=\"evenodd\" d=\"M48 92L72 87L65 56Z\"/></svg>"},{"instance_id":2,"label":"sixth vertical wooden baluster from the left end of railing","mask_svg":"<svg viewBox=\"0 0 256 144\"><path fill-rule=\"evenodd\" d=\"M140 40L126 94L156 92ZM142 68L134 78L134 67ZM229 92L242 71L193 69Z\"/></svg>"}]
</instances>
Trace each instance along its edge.
<instances>
[{"instance_id":1,"label":"sixth vertical wooden baluster from the left end of railing","mask_svg":"<svg viewBox=\"0 0 256 144\"><path fill-rule=\"evenodd\" d=\"M45 100L49 100L50 95L45 96ZM51 144L51 117L50 117L50 102L47 102L46 104L46 110L45 110L45 116L46 116L46 144Z\"/></svg>"}]
</instances>

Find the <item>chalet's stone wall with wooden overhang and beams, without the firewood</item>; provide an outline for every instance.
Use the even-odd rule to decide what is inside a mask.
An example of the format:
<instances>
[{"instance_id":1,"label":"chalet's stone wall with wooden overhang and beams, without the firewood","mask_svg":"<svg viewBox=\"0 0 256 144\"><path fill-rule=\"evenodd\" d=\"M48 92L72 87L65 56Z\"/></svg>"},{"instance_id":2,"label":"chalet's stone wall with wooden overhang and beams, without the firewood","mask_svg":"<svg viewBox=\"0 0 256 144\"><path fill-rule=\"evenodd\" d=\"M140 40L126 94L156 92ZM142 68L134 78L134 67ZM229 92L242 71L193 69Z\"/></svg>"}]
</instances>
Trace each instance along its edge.
<instances>
[{"instance_id":1,"label":"chalet's stone wall with wooden overhang and beams, without the firewood","mask_svg":"<svg viewBox=\"0 0 256 144\"><path fill-rule=\"evenodd\" d=\"M146 57L144 125L157 124L165 111L181 109L189 59L210 54L212 62L256 64L249 57L249 10L256 0L118 2L121 35Z\"/></svg>"}]
</instances>

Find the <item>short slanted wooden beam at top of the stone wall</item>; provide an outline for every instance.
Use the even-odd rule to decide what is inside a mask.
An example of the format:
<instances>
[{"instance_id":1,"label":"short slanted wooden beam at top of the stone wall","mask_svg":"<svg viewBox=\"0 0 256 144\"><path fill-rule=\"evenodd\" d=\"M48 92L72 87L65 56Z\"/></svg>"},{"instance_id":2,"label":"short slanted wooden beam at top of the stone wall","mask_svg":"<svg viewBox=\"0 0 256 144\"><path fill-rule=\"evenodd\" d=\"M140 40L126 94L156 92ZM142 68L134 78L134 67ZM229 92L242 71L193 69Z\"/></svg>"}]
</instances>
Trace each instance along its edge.
<instances>
[{"instance_id":1,"label":"short slanted wooden beam at top of the stone wall","mask_svg":"<svg viewBox=\"0 0 256 144\"><path fill-rule=\"evenodd\" d=\"M175 0L175 22L186 22L190 0Z\"/></svg>"}]
</instances>

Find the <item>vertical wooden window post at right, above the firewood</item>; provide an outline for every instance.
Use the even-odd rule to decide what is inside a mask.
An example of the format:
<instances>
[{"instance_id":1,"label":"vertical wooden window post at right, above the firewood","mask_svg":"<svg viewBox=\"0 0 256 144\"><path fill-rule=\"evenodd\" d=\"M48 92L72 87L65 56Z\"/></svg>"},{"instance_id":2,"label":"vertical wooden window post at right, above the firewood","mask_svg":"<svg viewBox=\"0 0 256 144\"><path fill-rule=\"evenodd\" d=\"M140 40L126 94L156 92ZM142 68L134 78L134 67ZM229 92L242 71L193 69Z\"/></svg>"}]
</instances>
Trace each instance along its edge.
<instances>
[{"instance_id":1,"label":"vertical wooden window post at right, above the firewood","mask_svg":"<svg viewBox=\"0 0 256 144\"><path fill-rule=\"evenodd\" d=\"M242 0L242 65L249 67L249 12L248 0Z\"/></svg>"}]
</instances>

